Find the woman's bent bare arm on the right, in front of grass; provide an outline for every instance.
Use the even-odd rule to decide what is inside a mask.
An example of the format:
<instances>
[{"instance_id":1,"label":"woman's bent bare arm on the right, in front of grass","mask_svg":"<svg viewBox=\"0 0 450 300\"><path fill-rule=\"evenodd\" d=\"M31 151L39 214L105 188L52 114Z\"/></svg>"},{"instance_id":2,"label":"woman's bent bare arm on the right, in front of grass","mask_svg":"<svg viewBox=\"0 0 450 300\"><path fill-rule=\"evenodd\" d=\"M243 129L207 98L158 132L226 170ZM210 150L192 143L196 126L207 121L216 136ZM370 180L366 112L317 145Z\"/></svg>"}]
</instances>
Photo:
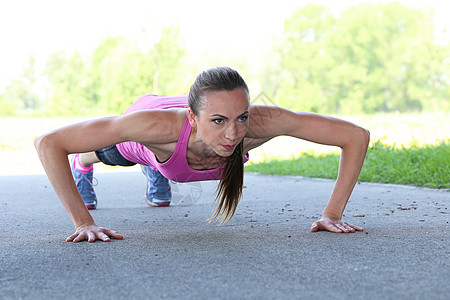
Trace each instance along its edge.
<instances>
[{"instance_id":1,"label":"woman's bent bare arm on the right, in front of grass","mask_svg":"<svg viewBox=\"0 0 450 300\"><path fill-rule=\"evenodd\" d=\"M252 115L253 112L256 112ZM256 107L250 111L249 137L268 139L288 135L341 148L335 187L322 218L311 231L352 232L362 230L342 222L347 201L358 180L366 156L370 134L367 130L340 119L312 113L292 112L278 107Z\"/></svg>"}]
</instances>

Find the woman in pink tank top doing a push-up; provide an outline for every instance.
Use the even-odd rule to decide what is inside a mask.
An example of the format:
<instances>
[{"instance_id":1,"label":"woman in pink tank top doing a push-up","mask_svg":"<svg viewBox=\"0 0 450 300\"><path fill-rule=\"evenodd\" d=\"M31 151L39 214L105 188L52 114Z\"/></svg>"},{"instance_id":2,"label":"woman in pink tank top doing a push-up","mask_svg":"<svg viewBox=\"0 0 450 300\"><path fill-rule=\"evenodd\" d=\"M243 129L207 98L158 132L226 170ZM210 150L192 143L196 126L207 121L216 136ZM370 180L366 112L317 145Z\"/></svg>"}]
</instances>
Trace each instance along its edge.
<instances>
[{"instance_id":1,"label":"woman in pink tank top doing a push-up","mask_svg":"<svg viewBox=\"0 0 450 300\"><path fill-rule=\"evenodd\" d=\"M220 217L225 222L242 194L245 154L280 135L342 149L335 188L311 231L362 231L341 217L364 162L368 131L317 114L250 105L245 81L227 67L202 72L188 96L144 96L122 116L55 130L38 137L35 146L76 228L66 240L94 242L123 238L97 226L87 209L95 208L97 201L92 188L94 163L144 165L147 200L152 206L170 202L165 177L180 182L220 179L211 219ZM72 153L82 154L75 156L71 174L67 156Z\"/></svg>"}]
</instances>

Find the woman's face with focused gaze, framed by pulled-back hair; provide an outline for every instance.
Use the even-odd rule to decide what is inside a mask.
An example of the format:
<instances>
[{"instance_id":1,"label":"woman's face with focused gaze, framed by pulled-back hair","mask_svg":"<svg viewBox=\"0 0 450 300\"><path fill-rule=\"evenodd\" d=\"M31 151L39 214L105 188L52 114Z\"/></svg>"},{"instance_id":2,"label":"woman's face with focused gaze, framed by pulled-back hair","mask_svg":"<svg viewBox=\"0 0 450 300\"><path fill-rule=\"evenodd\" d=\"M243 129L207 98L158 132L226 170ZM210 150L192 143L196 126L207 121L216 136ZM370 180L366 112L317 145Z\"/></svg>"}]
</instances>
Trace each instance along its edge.
<instances>
[{"instance_id":1,"label":"woman's face with focused gaze, framed by pulled-back hair","mask_svg":"<svg viewBox=\"0 0 450 300\"><path fill-rule=\"evenodd\" d=\"M248 130L249 101L242 88L205 94L205 106L198 116L190 112L192 127L200 138L220 156L230 156Z\"/></svg>"}]
</instances>

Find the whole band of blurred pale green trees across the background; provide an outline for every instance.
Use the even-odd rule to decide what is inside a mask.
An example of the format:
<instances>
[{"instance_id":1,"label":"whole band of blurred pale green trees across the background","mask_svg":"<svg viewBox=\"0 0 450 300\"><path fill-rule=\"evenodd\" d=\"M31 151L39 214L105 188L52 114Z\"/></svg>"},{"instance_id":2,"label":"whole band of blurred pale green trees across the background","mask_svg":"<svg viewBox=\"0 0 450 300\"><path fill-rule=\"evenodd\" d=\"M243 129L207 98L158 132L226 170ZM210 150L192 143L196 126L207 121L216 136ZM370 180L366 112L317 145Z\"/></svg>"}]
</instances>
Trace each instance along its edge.
<instances>
[{"instance_id":1,"label":"whole band of blurred pale green trees across the background","mask_svg":"<svg viewBox=\"0 0 450 300\"><path fill-rule=\"evenodd\" d=\"M143 45L118 35L102 38L88 51L54 51L41 62L31 54L22 71L0 87L0 116L121 114L143 94L187 92L202 68L214 65L236 68L255 101L264 98L293 110L448 112L450 42L437 40L435 12L397 2L363 2L336 14L325 5L300 1L264 49L247 49L257 60L233 53L232 44L204 48L199 58L186 47L189 40L176 23L158 33L145 25L135 28ZM233 22L233 16L228 20ZM261 92L264 97L258 97Z\"/></svg>"}]
</instances>

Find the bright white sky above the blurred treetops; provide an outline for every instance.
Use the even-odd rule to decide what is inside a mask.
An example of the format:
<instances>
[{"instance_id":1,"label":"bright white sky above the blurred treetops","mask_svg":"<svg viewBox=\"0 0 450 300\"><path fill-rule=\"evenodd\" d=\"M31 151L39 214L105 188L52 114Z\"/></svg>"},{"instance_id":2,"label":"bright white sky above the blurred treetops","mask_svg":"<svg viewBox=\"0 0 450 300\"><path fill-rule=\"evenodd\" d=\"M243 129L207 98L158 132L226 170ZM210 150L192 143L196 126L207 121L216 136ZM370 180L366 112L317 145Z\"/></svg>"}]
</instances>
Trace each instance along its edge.
<instances>
[{"instance_id":1,"label":"bright white sky above the blurred treetops","mask_svg":"<svg viewBox=\"0 0 450 300\"><path fill-rule=\"evenodd\" d=\"M338 14L364 2L388 1L0 0L0 92L30 55L43 65L52 52L89 52L110 36L127 36L145 47L158 40L161 28L178 24L190 52L251 56L281 34L284 20L298 7L319 3ZM436 21L447 28L445 39L450 41L447 1L399 2L435 8Z\"/></svg>"}]
</instances>

